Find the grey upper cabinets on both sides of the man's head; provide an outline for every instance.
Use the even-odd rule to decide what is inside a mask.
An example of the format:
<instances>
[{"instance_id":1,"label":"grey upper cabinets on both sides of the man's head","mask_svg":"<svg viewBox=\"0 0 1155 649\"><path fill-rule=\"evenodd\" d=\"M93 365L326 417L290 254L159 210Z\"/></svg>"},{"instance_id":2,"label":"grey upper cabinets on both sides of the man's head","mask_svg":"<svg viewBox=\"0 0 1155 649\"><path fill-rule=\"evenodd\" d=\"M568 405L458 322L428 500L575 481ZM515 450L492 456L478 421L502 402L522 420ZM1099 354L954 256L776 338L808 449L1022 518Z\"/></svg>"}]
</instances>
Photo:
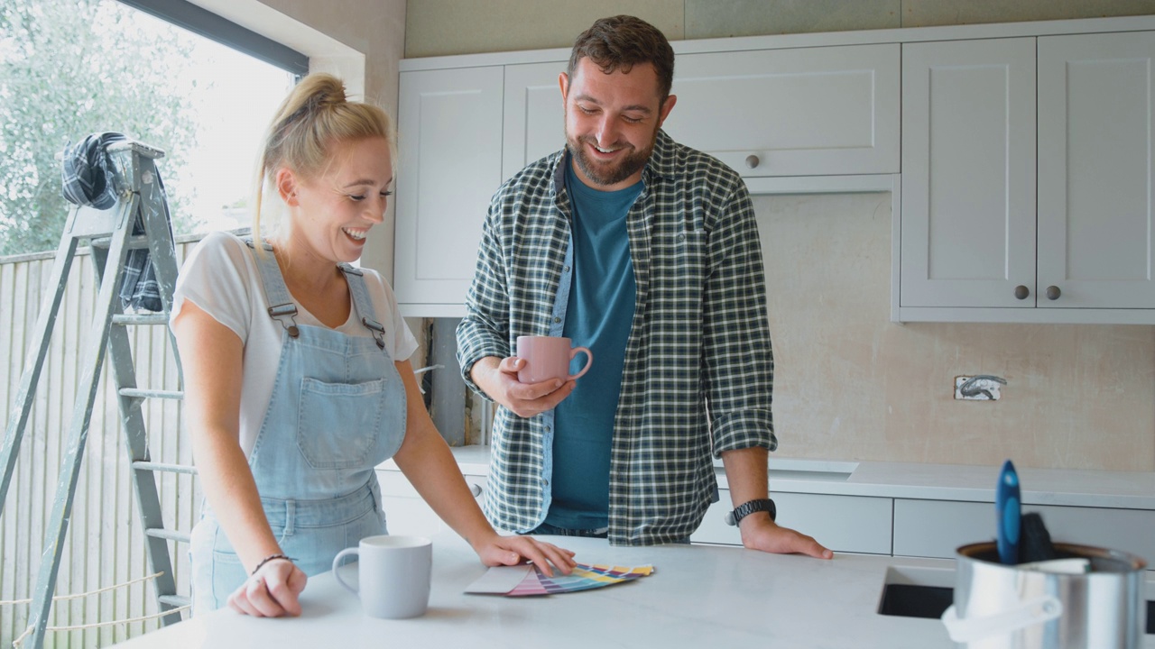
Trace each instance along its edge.
<instances>
[{"instance_id":1,"label":"grey upper cabinets on both sides of the man's head","mask_svg":"<svg viewBox=\"0 0 1155 649\"><path fill-rule=\"evenodd\" d=\"M899 170L899 45L678 55L666 130L746 177ZM565 144L566 60L401 73L394 290L460 318L493 192Z\"/></svg>"}]
</instances>

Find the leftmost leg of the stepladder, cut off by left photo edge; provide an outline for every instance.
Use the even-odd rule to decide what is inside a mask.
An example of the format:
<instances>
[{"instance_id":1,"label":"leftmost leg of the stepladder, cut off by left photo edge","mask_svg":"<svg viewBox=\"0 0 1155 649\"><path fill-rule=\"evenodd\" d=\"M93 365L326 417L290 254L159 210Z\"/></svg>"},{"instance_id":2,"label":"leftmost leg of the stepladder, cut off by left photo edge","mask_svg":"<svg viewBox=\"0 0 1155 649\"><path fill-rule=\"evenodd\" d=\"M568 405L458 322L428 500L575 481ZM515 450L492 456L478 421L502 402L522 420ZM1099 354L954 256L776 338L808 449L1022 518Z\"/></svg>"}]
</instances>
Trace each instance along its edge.
<instances>
[{"instance_id":1,"label":"leftmost leg of the stepladder, cut off by left photo edge","mask_svg":"<svg viewBox=\"0 0 1155 649\"><path fill-rule=\"evenodd\" d=\"M5 428L3 448L0 449L0 470L3 471L0 476L0 514L3 514L3 506L8 500L8 486L16 471L16 460L20 456L20 445L24 439L24 430L28 427L28 418L32 412L36 386L40 381L40 371L44 368L44 359L47 357L52 342L52 330L55 327L57 315L60 313L65 289L68 285L68 273L76 258L76 238L68 236L68 232L76 219L77 211L80 210L76 207L68 211L68 221L65 225L66 234L61 237L60 245L57 247L52 274L49 276L49 285L54 289L44 296L44 304L36 319L36 329L32 331L32 346L28 352L28 365L21 375L16 401L13 403L8 426Z\"/></svg>"}]
</instances>

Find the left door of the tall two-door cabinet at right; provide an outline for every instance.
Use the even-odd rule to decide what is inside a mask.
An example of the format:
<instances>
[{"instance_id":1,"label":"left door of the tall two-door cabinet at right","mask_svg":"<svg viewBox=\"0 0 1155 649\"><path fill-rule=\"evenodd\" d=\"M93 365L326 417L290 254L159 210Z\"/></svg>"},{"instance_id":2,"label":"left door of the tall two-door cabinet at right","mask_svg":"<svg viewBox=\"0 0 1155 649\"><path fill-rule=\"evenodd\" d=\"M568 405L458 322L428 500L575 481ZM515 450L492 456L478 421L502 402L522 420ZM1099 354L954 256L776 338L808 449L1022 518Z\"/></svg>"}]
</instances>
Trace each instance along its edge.
<instances>
[{"instance_id":1,"label":"left door of the tall two-door cabinet at right","mask_svg":"<svg viewBox=\"0 0 1155 649\"><path fill-rule=\"evenodd\" d=\"M901 238L901 306L1035 305L1034 38L903 45Z\"/></svg>"}]
</instances>

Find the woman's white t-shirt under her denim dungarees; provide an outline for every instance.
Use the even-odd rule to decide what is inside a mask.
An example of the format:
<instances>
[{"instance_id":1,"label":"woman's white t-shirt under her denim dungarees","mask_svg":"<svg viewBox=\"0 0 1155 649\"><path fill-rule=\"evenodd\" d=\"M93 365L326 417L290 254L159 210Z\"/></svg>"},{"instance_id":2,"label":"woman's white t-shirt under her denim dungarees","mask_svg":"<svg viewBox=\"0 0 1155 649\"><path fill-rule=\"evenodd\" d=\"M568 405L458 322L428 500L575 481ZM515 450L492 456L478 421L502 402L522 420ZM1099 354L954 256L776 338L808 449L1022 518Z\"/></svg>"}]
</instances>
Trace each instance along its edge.
<instances>
[{"instance_id":1,"label":"woman's white t-shirt under her denim dungarees","mask_svg":"<svg viewBox=\"0 0 1155 649\"><path fill-rule=\"evenodd\" d=\"M365 286L373 300L373 319L385 327L386 351L395 361L407 360L417 350L417 340L401 316L393 290L375 270L362 270L365 273ZM244 345L240 447L245 456L248 456L264 420L269 400L273 398L273 382L281 363L281 336L284 330L281 322L268 313L268 298L253 252L243 240L228 232L207 236L193 248L180 269L172 298L170 324L180 314L186 299L232 329ZM293 303L297 305L295 318L298 324L325 327L300 303ZM356 308L349 309L349 320L336 330L349 336L372 335L362 324Z\"/></svg>"}]
</instances>

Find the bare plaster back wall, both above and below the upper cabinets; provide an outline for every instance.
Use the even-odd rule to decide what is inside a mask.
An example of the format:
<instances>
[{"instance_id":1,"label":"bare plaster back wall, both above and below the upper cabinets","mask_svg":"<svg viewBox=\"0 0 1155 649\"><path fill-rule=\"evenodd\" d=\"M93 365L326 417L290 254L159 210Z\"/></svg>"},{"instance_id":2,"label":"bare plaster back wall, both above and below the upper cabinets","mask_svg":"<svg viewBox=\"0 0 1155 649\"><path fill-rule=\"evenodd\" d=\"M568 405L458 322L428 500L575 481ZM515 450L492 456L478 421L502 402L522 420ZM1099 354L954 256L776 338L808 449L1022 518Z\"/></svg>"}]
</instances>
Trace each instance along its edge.
<instances>
[{"instance_id":1,"label":"bare plaster back wall, both above and below the upper cabinets","mask_svg":"<svg viewBox=\"0 0 1155 649\"><path fill-rule=\"evenodd\" d=\"M405 57L568 47L620 13L679 40L1153 14L1155 0L422 0ZM755 202L777 456L1155 470L1155 329L892 323L889 195ZM1003 398L955 401L954 376L978 373L1007 379Z\"/></svg>"}]
</instances>

